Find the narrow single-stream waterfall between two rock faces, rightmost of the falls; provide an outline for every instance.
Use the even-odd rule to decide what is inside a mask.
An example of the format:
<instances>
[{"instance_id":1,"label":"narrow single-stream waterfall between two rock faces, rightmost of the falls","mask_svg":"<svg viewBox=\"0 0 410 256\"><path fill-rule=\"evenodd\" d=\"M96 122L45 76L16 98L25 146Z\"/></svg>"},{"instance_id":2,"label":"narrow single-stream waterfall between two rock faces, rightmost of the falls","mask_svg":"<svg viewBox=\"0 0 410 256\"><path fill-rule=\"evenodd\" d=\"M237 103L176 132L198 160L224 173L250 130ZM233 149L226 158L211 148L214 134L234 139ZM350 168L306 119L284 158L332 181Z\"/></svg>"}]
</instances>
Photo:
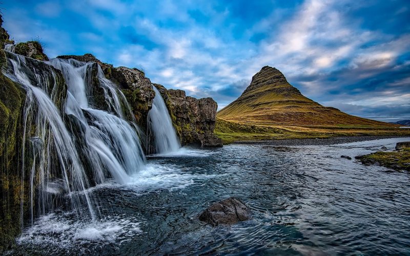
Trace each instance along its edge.
<instances>
[{"instance_id":1,"label":"narrow single-stream waterfall between two rock faces, rightmost of the falls","mask_svg":"<svg viewBox=\"0 0 410 256\"><path fill-rule=\"evenodd\" d=\"M155 98L148 113L148 130L154 136L155 153L163 154L179 150L181 147L167 106L159 91L153 86Z\"/></svg>"}]
</instances>

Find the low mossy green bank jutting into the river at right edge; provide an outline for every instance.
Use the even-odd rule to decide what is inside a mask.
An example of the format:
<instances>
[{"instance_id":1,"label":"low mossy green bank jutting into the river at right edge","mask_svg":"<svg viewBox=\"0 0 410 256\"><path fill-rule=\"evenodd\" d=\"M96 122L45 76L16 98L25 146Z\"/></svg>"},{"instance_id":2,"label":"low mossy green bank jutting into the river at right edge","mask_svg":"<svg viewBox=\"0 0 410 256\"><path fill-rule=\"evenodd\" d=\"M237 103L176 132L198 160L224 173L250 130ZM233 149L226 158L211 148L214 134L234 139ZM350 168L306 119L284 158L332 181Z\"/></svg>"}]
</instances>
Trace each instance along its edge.
<instances>
[{"instance_id":1,"label":"low mossy green bank jutting into the river at right edge","mask_svg":"<svg viewBox=\"0 0 410 256\"><path fill-rule=\"evenodd\" d=\"M410 147L404 147L402 150L394 152L379 151L374 154L363 156L361 161L363 163L376 162L382 166L396 170L410 171Z\"/></svg>"}]
</instances>

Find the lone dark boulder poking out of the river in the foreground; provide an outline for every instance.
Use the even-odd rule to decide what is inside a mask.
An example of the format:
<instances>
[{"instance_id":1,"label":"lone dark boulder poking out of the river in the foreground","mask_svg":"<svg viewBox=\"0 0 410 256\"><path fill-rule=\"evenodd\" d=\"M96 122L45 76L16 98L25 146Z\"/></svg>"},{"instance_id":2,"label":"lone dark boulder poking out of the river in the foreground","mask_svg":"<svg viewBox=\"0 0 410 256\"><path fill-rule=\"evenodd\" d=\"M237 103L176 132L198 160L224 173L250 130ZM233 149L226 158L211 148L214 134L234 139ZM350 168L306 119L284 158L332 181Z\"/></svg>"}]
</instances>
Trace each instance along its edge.
<instances>
[{"instance_id":1,"label":"lone dark boulder poking out of the river in the foreground","mask_svg":"<svg viewBox=\"0 0 410 256\"><path fill-rule=\"evenodd\" d=\"M236 198L228 198L212 204L199 215L199 220L208 222L212 226L219 224L235 224L250 219L249 208Z\"/></svg>"}]
</instances>

